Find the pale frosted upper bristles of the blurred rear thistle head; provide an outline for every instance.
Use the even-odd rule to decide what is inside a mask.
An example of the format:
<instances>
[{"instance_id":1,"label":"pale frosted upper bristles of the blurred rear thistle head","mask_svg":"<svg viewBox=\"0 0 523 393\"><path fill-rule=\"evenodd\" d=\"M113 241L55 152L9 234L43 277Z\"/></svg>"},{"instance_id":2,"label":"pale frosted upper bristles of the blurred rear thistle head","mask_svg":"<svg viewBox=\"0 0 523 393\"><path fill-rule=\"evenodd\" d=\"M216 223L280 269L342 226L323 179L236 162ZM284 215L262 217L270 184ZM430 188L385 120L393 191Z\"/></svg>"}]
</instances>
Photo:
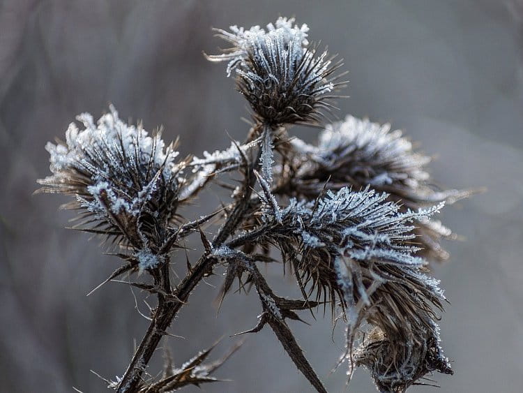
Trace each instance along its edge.
<instances>
[{"instance_id":1,"label":"pale frosted upper bristles of the blurred rear thistle head","mask_svg":"<svg viewBox=\"0 0 523 393\"><path fill-rule=\"evenodd\" d=\"M430 175L424 168L430 157L413 151L402 131L391 131L390 124L348 115L344 121L328 124L319 134L317 146L297 139L291 142L314 163L315 172L330 176L333 183L369 184L395 190L397 197L416 194L416 199L432 193L426 185ZM418 207L411 201L407 203Z\"/></svg>"}]
</instances>

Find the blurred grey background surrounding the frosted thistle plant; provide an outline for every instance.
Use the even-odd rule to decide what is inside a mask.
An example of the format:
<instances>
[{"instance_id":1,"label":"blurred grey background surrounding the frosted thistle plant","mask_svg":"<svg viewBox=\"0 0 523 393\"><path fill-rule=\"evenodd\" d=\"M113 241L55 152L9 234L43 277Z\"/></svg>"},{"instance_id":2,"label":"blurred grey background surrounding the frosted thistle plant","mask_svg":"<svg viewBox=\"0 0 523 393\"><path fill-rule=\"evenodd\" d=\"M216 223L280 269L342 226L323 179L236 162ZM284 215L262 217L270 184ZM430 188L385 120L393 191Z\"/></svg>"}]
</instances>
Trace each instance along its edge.
<instances>
[{"instance_id":1,"label":"blurred grey background surrounding the frosted thistle plant","mask_svg":"<svg viewBox=\"0 0 523 393\"><path fill-rule=\"evenodd\" d=\"M112 283L86 297L117 266L98 239L63 229L66 198L31 195L48 173L45 142L63 138L79 112L98 117L109 102L123 119L181 136L183 154L243 139L247 116L223 64L202 51L227 46L211 27L265 25L279 15L307 23L310 38L344 58L349 73L340 116L391 121L434 155L432 174L448 187L489 191L447 207L441 218L464 242L447 243L435 269L451 304L441 321L454 376L440 390L521 392L523 385L523 3L518 0L411 1L0 1L0 391L103 392L89 370L121 375L147 325L129 288ZM313 140L314 129L291 133ZM209 212L206 196L192 214ZM197 242L193 244L197 246ZM190 253L197 258L197 253ZM173 258L183 274L185 255ZM179 266L177 267L176 264ZM280 295L294 291L268 269ZM255 325L259 305L232 295L216 313L220 276L202 283L171 329L180 364ZM139 295L139 294L137 294ZM146 306L139 298L142 311ZM321 313L292 323L332 392L345 391L335 366L342 331L331 338ZM159 370L162 351L151 366ZM217 373L232 382L204 392L308 392L305 378L269 330L250 335ZM196 388L188 389L197 391ZM374 392L359 370L348 392Z\"/></svg>"}]
</instances>

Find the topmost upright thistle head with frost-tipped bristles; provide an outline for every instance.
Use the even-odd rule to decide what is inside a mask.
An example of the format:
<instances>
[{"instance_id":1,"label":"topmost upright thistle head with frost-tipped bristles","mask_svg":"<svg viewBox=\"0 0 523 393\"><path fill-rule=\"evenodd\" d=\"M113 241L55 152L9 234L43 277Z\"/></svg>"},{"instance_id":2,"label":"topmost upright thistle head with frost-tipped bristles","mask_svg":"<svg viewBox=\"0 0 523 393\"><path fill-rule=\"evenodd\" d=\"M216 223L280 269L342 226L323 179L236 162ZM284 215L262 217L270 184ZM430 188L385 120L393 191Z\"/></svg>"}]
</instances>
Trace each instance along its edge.
<instances>
[{"instance_id":1,"label":"topmost upright thistle head with frost-tipped bristles","mask_svg":"<svg viewBox=\"0 0 523 393\"><path fill-rule=\"evenodd\" d=\"M229 61L227 75L236 71L236 86L245 96L257 119L271 126L316 123L321 110L329 110L329 94L341 66L333 64L327 52L317 54L309 45L309 28L294 25L294 18L280 17L266 29L249 30L232 26L231 32L218 30L233 47L224 54L209 56L211 61Z\"/></svg>"}]
</instances>

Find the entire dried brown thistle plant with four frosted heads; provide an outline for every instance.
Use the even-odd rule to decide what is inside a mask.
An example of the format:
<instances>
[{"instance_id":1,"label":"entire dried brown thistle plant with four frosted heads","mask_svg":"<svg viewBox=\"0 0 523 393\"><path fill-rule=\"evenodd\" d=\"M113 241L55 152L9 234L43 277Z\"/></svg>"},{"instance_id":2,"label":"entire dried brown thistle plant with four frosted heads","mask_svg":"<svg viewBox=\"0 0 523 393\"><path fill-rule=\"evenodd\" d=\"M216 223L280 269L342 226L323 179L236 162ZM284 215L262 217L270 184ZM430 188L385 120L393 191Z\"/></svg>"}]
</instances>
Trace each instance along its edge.
<instances>
[{"instance_id":1,"label":"entire dried brown thistle plant with four frosted heads","mask_svg":"<svg viewBox=\"0 0 523 393\"><path fill-rule=\"evenodd\" d=\"M363 366L380 392L404 392L427 373L452 373L439 343L438 312L446 301L439 281L427 275L427 260L443 260L440 238L453 232L430 217L470 191L431 186L430 158L413 151L401 131L347 117L322 126L344 87L340 61L308 42L308 27L280 17L266 29L218 30L232 47L211 61L227 61L236 89L252 108L252 128L243 143L203 158L178 157L176 143L159 133L125 124L111 107L93 122L89 114L71 124L66 142L48 143L52 175L41 192L73 196L75 228L105 237L123 261L107 281L146 274L151 282L131 286L155 295L151 325L127 370L107 381L119 393L172 392L215 381L226 357L204 364L209 350L180 368L167 362L160 378L144 371L160 339L204 276L226 274L220 301L235 279L252 284L262 313L249 332L268 326L303 375L326 392L287 325L298 311L331 305L346 323L349 379ZM321 128L319 142L289 136L289 126ZM227 175L240 175L240 186ZM190 220L179 208L210 182L231 189L231 201ZM202 228L220 221L213 239ZM199 234L204 246L177 285L170 277L172 253ZM279 258L273 258L279 255ZM259 265L290 267L303 298L287 299L268 286ZM106 281L106 282L107 282Z\"/></svg>"}]
</instances>

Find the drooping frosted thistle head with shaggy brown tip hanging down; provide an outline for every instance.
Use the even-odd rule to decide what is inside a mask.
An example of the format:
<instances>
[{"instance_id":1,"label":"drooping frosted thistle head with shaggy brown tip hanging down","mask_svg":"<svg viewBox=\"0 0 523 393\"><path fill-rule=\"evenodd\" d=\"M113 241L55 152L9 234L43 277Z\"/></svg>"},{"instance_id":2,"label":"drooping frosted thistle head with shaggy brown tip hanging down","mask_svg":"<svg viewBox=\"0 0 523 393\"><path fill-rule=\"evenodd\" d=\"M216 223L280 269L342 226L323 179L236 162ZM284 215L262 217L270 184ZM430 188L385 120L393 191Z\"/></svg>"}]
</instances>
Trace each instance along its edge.
<instances>
[{"instance_id":1,"label":"drooping frosted thistle head with shaggy brown tip hanging down","mask_svg":"<svg viewBox=\"0 0 523 393\"><path fill-rule=\"evenodd\" d=\"M368 187L342 188L310 202L291 199L281 212L266 202L268 229L256 242L280 249L303 294L342 304L344 359L351 367L370 369L382 392L404 392L432 371L452 373L434 311L441 311L445 297L439 281L424 273L427 262L413 244L414 223L428 220L443 202L401 212L387 197Z\"/></svg>"}]
</instances>

